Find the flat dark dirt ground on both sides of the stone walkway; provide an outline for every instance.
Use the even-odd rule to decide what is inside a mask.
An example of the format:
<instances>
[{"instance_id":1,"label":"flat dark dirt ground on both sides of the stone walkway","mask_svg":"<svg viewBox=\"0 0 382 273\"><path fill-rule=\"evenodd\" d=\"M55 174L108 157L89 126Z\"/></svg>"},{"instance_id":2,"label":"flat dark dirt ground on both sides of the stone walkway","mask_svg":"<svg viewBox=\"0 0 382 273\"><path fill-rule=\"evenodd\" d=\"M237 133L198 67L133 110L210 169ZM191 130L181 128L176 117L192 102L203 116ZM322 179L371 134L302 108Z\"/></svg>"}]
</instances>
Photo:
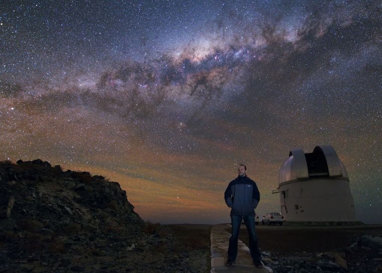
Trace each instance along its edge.
<instances>
[{"instance_id":1,"label":"flat dark dirt ground on both sides of the stone walkway","mask_svg":"<svg viewBox=\"0 0 382 273\"><path fill-rule=\"evenodd\" d=\"M182 251L188 253L201 251L201 257L205 257L205 270L209 272L211 225L174 224L164 226L179 239L180 244L177 247L177 251L180 253ZM225 230L231 233L231 228L228 225ZM357 242L362 235L382 236L382 226L365 225L362 228L349 228L259 225L256 226L256 232L261 251L270 251L274 255L280 256L304 256L341 250ZM239 238L249 246L249 236L244 225L241 227Z\"/></svg>"}]
</instances>

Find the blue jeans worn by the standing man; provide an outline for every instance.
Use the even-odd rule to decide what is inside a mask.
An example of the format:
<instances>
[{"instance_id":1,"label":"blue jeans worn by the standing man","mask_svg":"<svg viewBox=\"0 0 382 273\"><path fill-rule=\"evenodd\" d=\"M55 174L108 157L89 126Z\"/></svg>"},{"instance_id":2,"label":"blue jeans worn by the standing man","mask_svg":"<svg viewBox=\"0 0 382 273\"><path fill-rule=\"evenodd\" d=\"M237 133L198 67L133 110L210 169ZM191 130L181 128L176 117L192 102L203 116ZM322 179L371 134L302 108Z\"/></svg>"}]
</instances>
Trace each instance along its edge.
<instances>
[{"instance_id":1,"label":"blue jeans worn by the standing man","mask_svg":"<svg viewBox=\"0 0 382 273\"><path fill-rule=\"evenodd\" d=\"M244 223L247 226L249 234L249 250L251 252L251 257L254 262L260 262L261 254L259 251L259 246L257 242L257 236L255 231L255 217L252 215L249 216L239 216L231 215L231 224L232 224L232 235L229 238L228 246L228 260L236 261L237 256L237 240L239 239L241 219L244 219Z\"/></svg>"}]
</instances>

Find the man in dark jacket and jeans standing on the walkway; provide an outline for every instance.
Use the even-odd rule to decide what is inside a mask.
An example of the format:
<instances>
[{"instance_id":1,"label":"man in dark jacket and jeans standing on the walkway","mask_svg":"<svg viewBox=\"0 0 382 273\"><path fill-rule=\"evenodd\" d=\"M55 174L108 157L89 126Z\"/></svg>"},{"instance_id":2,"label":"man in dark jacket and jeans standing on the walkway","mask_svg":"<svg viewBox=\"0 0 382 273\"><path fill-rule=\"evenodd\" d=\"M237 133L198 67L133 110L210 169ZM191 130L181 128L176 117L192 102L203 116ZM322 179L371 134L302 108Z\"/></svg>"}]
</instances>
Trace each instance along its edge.
<instances>
[{"instance_id":1,"label":"man in dark jacket and jeans standing on the walkway","mask_svg":"<svg viewBox=\"0 0 382 273\"><path fill-rule=\"evenodd\" d=\"M232 235L229 238L227 267L232 266L237 256L237 240L239 239L242 219L249 233L249 250L254 265L262 268L261 254L255 231L255 211L260 201L260 192L254 181L247 177L247 167L240 164L239 176L228 184L224 192L226 204L231 208Z\"/></svg>"}]
</instances>

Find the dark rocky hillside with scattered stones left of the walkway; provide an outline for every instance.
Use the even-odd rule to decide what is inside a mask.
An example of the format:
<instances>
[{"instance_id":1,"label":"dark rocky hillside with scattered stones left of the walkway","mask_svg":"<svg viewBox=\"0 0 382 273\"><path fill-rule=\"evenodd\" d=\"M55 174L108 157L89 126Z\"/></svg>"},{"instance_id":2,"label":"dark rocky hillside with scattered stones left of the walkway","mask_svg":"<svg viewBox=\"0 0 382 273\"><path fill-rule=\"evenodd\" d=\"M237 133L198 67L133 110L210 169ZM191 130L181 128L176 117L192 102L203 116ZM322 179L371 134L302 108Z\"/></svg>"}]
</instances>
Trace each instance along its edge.
<instances>
[{"instance_id":1,"label":"dark rocky hillside with scattered stones left of the walkway","mask_svg":"<svg viewBox=\"0 0 382 273\"><path fill-rule=\"evenodd\" d=\"M206 270L208 253L144 222L117 182L39 159L0 162L0 218L0 272Z\"/></svg>"}]
</instances>

